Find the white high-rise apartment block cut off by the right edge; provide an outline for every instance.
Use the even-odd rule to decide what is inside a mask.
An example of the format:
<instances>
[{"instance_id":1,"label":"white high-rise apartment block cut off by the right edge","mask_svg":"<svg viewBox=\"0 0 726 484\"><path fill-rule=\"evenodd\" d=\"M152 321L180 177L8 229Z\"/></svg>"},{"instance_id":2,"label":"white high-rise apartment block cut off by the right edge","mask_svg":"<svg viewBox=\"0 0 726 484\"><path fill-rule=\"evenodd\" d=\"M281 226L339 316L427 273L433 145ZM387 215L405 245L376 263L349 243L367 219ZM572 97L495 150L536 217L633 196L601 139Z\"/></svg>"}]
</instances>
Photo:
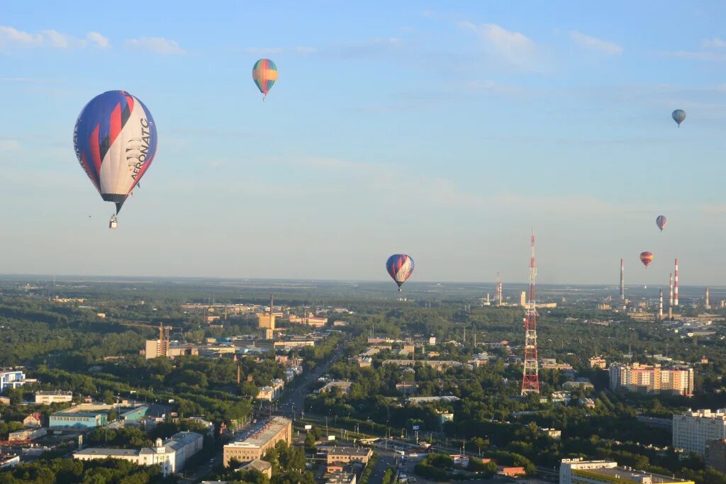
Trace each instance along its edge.
<instances>
[{"instance_id":1,"label":"white high-rise apartment block cut off by the right edge","mask_svg":"<svg viewBox=\"0 0 726 484\"><path fill-rule=\"evenodd\" d=\"M673 446L706 455L706 441L726 438L726 409L685 411L673 415Z\"/></svg>"}]
</instances>

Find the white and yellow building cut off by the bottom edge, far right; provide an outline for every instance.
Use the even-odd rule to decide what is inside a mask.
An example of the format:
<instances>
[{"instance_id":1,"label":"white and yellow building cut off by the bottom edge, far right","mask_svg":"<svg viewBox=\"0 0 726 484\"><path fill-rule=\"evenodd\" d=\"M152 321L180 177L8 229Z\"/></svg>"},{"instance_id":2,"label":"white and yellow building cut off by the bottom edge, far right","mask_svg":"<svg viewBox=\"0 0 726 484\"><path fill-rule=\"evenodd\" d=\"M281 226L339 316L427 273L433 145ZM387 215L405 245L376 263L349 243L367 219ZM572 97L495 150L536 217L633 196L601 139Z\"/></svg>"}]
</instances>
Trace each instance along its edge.
<instances>
[{"instance_id":1,"label":"white and yellow building cut off by the bottom edge, far right","mask_svg":"<svg viewBox=\"0 0 726 484\"><path fill-rule=\"evenodd\" d=\"M695 484L692 480L618 467L617 462L563 459L560 484Z\"/></svg>"}]
</instances>

